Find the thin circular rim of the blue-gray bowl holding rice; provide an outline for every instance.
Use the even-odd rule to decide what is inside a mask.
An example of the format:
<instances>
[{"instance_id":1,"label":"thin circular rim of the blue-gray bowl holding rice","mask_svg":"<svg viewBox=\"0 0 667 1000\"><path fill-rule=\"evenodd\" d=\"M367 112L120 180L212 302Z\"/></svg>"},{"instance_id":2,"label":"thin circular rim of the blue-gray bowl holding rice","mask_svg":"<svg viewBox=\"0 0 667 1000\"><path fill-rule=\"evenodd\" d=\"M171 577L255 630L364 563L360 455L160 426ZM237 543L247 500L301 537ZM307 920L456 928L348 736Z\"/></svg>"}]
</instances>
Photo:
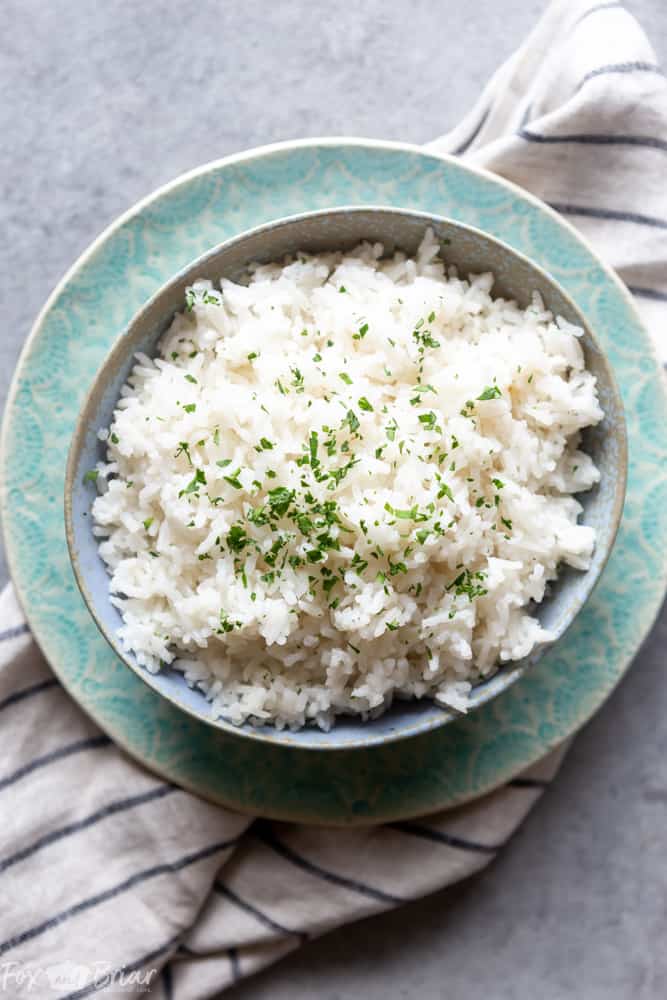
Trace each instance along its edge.
<instances>
[{"instance_id":1,"label":"thin circular rim of the blue-gray bowl holding rice","mask_svg":"<svg viewBox=\"0 0 667 1000\"><path fill-rule=\"evenodd\" d=\"M526 663L523 661L514 661L514 662L509 661L507 664L503 664L501 669L504 671L505 683L497 690L490 690L483 692L482 696L479 697L479 699L473 706L471 706L468 712L465 713L460 712L457 709L450 706L448 706L447 708L439 706L442 707L442 712L437 717L432 719L426 719L422 722L416 722L411 725L409 724L395 731L383 732L377 734L376 736L373 736L372 731L369 729L367 736L359 736L357 738L350 739L346 742L334 743L334 742L328 742L323 739L321 742L301 743L300 741L297 741L294 738L295 733L293 733L289 729L278 730L273 725L236 726L224 718L214 717L210 713L206 714L204 711L198 711L194 706L185 704L178 698L174 697L171 693L163 691L161 687L158 686L158 684L154 683L153 678L159 675L152 674L146 668L140 667L132 663L127 658L125 651L122 649L116 635L113 633L113 631L108 629L106 625L100 620L96 611L95 600L92 597L92 594L89 592L88 587L86 585L85 574L81 569L75 545L72 494L74 489L74 477L75 477L77 459L79 452L81 450L82 442L85 438L86 430L89 426L89 420L88 420L89 410L91 410L94 407L99 387L103 385L105 382L104 376L106 372L109 370L109 368L113 366L115 361L122 360L123 358L126 357L127 351L125 350L125 345L132 336L132 333L136 328L136 326L141 323L145 314L150 312L153 309L154 305L164 295L166 295L175 284L178 284L186 280L195 280L196 274L194 274L193 272L197 271L198 269L204 268L207 262L217 257L224 250L227 250L230 247L233 247L239 243L243 243L250 237L255 237L261 235L264 232L274 231L276 229L287 227L300 221L308 221L317 218L328 218L331 217L332 215L339 215L339 214L355 215L362 213L372 213L374 215L385 214L392 216L397 216L397 215L407 216L412 219L418 219L420 221L423 221L425 226L427 226L429 223L446 223L447 225L450 225L455 229L459 229L470 235L482 236L489 243L495 244L502 252L509 254L510 256L513 256L515 258L518 258L521 262L527 264L528 267L537 274L539 274L543 280L545 280L548 284L552 285L565 300L565 302L572 310L572 312L576 315L577 323L581 325L585 330L587 337L590 339L591 343L594 345L596 351L598 352L601 364L605 368L609 387L614 396L615 407L620 417L620 419L618 420L618 425L614 430L614 435L617 437L619 467L618 467L618 474L616 477L614 499L610 517L611 530L609 534L609 541L606 547L606 551L604 552L603 557L596 568L596 571L591 575L587 586L582 591L581 596L573 605L571 612L567 615L565 623L561 627L555 639L539 647L537 656L532 662ZM67 540L67 549L68 549L70 564L74 572L74 577L76 579L77 587L79 589L79 592L81 593L84 603L86 604L89 614L91 615L95 625L97 626L98 631L107 641L107 643L109 644L113 652L116 654L116 656L123 662L124 666L132 670L132 672L157 695L159 695L161 698L166 699L168 702L170 702L180 711L185 712L190 717L197 719L200 722L204 722L208 726L211 726L214 729L223 731L227 734L239 738L256 740L268 746L278 745L282 747L294 747L299 750L341 752L354 749L355 747L368 748L372 746L380 746L380 745L385 745L387 743L398 742L399 740L408 739L410 737L417 736L422 733L439 729L442 726L448 724L449 722L453 721L454 719L462 715L469 716L473 712L475 712L478 708L481 708L489 701L492 701L498 696L500 696L504 691L506 691L509 687L511 687L521 676L523 676L526 670L534 666L537 659L541 659L544 653L546 653L549 649L553 648L553 646L564 637L566 632L569 630L569 628L571 627L571 625L581 612L584 605L589 600L609 560L609 557L613 550L614 543L618 534L618 529L621 523L623 506L625 503L626 487L627 487L627 471L628 471L628 443L627 443L627 427L625 420L625 408L623 406L623 399L620 390L618 388L613 367L607 357L606 351L603 350L603 348L601 347L597 336L595 335L590 324L586 320L586 317L583 315L581 309L572 299L572 296L563 288L560 282L553 277L553 275L551 275L544 267L542 267L540 264L537 264L526 254L522 253L520 250L516 250L514 247L510 246L508 243L505 243L503 240L498 239L491 233L488 233L477 226L471 226L467 223L459 222L458 220L452 219L449 216L439 215L438 213L435 212L425 212L423 210L417 210L417 209L395 208L392 207L391 205L342 204L331 208L316 209L309 212L298 212L288 216L281 216L278 219L274 219L269 222L262 223L258 226L253 226L248 229L245 229L242 232L237 233L234 236L230 237L229 239L223 240L220 243L215 244L213 247L206 250L203 254L200 254L198 257L194 258L184 267L180 268L167 281L163 282L160 285L160 287L146 300L146 302L144 302L144 304L133 314L131 319L121 329L120 333L117 335L117 337L111 344L109 350L107 351L106 355L104 356L102 362L98 366L95 377L92 380L85 394L83 402L81 403L81 406L79 408L78 416L76 419L70 445L68 448L67 463L65 468L64 498L63 498L65 536ZM494 674L491 674L489 678L485 678L485 680L490 680L492 677L497 676L498 673L499 671L496 671ZM202 694L203 705L208 706L209 703L205 700L203 692L201 692L201 694ZM418 700L426 701L427 699L418 699ZM433 699L429 700L433 702ZM356 718L356 717L351 717L351 716L348 717L346 715L341 715L338 716L337 718L344 720L346 718ZM372 721L373 720L366 720L363 722L360 721L360 724L362 726L366 725L372 726ZM302 732L303 728L304 727L302 727L301 730L298 730L297 732ZM335 731L336 729L334 723L331 732Z\"/></svg>"}]
</instances>

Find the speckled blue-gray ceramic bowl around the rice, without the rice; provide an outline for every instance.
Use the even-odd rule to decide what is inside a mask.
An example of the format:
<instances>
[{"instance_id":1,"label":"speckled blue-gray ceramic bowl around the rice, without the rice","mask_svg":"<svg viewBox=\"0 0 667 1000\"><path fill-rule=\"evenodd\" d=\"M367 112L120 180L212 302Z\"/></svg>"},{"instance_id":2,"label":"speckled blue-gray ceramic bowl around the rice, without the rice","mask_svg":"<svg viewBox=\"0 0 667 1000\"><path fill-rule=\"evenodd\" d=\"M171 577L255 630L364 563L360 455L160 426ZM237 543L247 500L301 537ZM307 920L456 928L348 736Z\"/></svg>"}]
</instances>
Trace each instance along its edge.
<instances>
[{"instance_id":1,"label":"speckled blue-gray ceramic bowl around the rice, without the rice","mask_svg":"<svg viewBox=\"0 0 667 1000\"><path fill-rule=\"evenodd\" d=\"M579 324L585 330L583 347L586 364L598 380L605 419L586 432L584 447L601 472L601 481L589 493L580 494L583 522L597 532L597 545L590 569L564 569L552 594L537 608L540 621L560 638L590 595L607 561L616 536L627 467L626 433L621 398L614 377L599 344L569 296L541 268L510 247L469 226L419 212L384 208L340 208L312 212L271 223L223 243L200 257L146 303L118 338L106 358L79 416L72 441L65 481L65 522L72 566L90 612L118 656L145 683L184 711L209 725L242 737L288 743L300 747L336 749L368 746L401 739L444 725L451 712L433 701L397 702L381 716L368 722L342 717L329 733L306 728L298 733L280 732L273 727L233 726L213 719L204 695L187 686L178 672L165 669L154 675L137 666L134 656L124 652L116 638L120 615L109 601L109 577L97 552L88 516L94 496L84 474L103 457L97 431L111 422L120 389L126 381L137 351L151 355L160 335L174 313L182 310L187 285L196 278L221 277L239 280L252 262L280 260L297 250L311 252L350 249L361 240L380 241L387 253L400 248L414 253L427 226L432 226L443 243L443 256L456 264L463 275L492 270L496 276L494 294L516 299L525 306L533 291L539 291L554 313ZM478 684L472 693L471 709L483 705L514 683L544 652L535 650L519 663L502 667Z\"/></svg>"}]
</instances>

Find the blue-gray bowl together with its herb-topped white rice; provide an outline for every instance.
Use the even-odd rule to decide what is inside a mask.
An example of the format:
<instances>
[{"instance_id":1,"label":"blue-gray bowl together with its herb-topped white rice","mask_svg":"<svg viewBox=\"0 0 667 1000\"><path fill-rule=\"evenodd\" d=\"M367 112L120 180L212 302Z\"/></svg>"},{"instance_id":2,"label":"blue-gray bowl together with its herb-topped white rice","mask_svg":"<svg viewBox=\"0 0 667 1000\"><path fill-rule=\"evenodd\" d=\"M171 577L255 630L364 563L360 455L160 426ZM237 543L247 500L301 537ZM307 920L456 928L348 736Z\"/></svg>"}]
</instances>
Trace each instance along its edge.
<instances>
[{"instance_id":1,"label":"blue-gray bowl together with its herb-topped white rice","mask_svg":"<svg viewBox=\"0 0 667 1000\"><path fill-rule=\"evenodd\" d=\"M67 540L163 697L244 737L368 746L558 641L626 464L610 365L553 278L451 220L341 208L229 240L135 316L76 427Z\"/></svg>"}]
</instances>

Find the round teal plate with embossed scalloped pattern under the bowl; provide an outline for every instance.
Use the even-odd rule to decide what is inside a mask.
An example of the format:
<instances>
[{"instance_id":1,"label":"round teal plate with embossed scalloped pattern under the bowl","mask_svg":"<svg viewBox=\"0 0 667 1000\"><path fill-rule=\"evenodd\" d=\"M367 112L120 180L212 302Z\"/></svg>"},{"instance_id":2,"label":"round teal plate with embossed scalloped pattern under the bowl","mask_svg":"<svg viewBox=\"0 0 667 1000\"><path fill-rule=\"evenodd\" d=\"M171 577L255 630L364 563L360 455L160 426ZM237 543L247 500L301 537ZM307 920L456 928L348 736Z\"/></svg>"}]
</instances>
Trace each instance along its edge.
<instances>
[{"instance_id":1,"label":"round teal plate with embossed scalloped pattern under the bowl","mask_svg":"<svg viewBox=\"0 0 667 1000\"><path fill-rule=\"evenodd\" d=\"M62 497L83 397L131 316L209 247L277 217L393 205L484 229L570 293L614 367L626 410L628 491L601 581L566 637L470 717L326 755L239 739L186 716L109 649L79 595ZM1 509L34 635L71 695L147 767L232 808L291 821L369 823L457 805L507 781L601 705L651 627L667 567L667 397L629 294L576 231L506 181L418 147L313 140L209 164L114 223L56 288L21 355L5 414Z\"/></svg>"}]
</instances>

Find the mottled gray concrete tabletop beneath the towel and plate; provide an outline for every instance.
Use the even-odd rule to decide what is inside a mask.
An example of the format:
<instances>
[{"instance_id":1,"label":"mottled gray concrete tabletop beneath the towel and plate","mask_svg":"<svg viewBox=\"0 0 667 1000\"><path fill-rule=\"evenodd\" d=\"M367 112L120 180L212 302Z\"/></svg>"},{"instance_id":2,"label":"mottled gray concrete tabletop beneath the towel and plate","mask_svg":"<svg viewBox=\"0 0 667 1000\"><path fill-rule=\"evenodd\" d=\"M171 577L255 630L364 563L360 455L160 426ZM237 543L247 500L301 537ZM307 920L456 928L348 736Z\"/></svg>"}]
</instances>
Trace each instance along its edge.
<instances>
[{"instance_id":1,"label":"mottled gray concrete tabletop beneath the towel and plate","mask_svg":"<svg viewBox=\"0 0 667 1000\"><path fill-rule=\"evenodd\" d=\"M629 0L663 60L664 0ZM71 261L176 174L249 146L447 130L542 0L5 0L0 402ZM4 568L0 568L5 579ZM230 1000L667 996L667 616L485 873L344 928Z\"/></svg>"}]
</instances>

